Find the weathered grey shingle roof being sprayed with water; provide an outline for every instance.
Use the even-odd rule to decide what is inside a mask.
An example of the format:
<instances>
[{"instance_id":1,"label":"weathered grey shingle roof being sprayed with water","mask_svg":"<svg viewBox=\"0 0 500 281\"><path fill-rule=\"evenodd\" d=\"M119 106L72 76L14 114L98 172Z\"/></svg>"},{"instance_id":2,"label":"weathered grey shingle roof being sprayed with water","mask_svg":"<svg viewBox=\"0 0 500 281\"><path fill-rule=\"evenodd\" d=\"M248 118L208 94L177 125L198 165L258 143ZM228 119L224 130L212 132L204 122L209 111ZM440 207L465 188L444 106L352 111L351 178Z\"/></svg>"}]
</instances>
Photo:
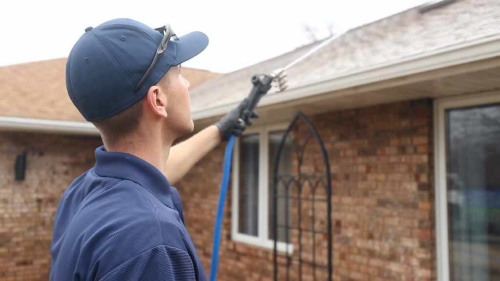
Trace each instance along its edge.
<instances>
[{"instance_id":1,"label":"weathered grey shingle roof being sprayed with water","mask_svg":"<svg viewBox=\"0 0 500 281\"><path fill-rule=\"evenodd\" d=\"M497 0L457 0L425 13L414 7L349 30L295 64L286 71L288 90L341 73L495 36L500 34L498 26L500 2ZM251 75L281 68L312 47L304 46L207 81L191 91L193 115L243 99L251 88ZM270 91L266 97L272 94ZM199 115L207 117L209 113Z\"/></svg>"}]
</instances>

